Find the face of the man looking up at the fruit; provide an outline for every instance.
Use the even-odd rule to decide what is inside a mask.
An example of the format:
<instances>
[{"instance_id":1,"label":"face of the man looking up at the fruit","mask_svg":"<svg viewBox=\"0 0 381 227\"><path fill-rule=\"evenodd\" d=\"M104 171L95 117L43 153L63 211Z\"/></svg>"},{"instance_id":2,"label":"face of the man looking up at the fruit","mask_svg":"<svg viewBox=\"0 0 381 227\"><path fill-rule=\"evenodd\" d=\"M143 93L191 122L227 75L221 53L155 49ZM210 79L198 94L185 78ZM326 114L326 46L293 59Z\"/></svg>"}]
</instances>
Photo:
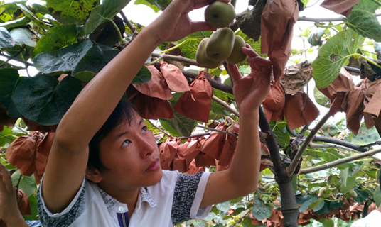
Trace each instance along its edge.
<instances>
[{"instance_id":1,"label":"face of the man looking up at the fruit","mask_svg":"<svg viewBox=\"0 0 381 227\"><path fill-rule=\"evenodd\" d=\"M123 192L156 184L162 177L159 148L139 114L123 121L100 143L102 170L99 183L105 191Z\"/></svg>"}]
</instances>

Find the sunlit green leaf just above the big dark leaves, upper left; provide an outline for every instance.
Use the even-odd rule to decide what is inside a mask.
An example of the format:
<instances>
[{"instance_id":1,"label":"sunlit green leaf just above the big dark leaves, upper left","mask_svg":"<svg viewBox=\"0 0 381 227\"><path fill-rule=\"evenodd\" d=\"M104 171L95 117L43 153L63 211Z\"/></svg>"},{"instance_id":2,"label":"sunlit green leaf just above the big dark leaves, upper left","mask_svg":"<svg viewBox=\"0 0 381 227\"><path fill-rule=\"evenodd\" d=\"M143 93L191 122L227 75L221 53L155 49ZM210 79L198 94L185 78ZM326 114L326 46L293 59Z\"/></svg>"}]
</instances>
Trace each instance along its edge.
<instances>
[{"instance_id":1,"label":"sunlit green leaf just above the big dark leaves, upper left","mask_svg":"<svg viewBox=\"0 0 381 227\"><path fill-rule=\"evenodd\" d=\"M33 57L41 52L57 52L74 43L77 43L77 28L74 24L55 26L38 40L33 50Z\"/></svg>"}]
</instances>

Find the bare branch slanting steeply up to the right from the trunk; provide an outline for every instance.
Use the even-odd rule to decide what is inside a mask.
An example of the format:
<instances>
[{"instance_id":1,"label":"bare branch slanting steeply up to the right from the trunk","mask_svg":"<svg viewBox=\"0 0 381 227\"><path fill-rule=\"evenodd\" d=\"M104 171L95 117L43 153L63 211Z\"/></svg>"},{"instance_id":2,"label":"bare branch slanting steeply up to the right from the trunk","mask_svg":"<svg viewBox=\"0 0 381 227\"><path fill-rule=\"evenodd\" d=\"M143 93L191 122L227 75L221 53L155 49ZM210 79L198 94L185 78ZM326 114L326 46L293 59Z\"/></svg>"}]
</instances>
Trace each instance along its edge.
<instances>
[{"instance_id":1,"label":"bare branch slanting steeply up to the right from the trunk","mask_svg":"<svg viewBox=\"0 0 381 227\"><path fill-rule=\"evenodd\" d=\"M294 159L291 161L291 164L289 165L289 167L286 168L287 169L287 175L289 175L289 177L291 177L294 174L296 166L299 164L301 156L303 155L304 150L306 150L308 144L311 142L311 140L316 135L316 133L318 133L320 128L324 125L324 123L326 123L326 121L330 117L331 117L331 114L328 111L327 114L324 115L323 118L321 118L321 120L318 122L318 124L315 126L315 128L312 129L311 133L308 134L306 140L304 140L304 142L301 144L301 147L299 148L298 152L296 153Z\"/></svg>"}]
</instances>

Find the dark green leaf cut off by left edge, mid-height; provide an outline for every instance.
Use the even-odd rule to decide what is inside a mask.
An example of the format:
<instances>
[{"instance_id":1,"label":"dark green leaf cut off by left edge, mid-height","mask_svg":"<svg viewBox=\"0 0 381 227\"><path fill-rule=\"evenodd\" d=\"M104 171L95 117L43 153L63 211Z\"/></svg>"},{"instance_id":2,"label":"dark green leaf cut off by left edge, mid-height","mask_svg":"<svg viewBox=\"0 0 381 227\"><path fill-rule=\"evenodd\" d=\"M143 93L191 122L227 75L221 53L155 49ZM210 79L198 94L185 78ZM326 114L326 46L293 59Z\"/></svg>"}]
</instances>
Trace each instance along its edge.
<instances>
[{"instance_id":1,"label":"dark green leaf cut off by left edge, mid-height","mask_svg":"<svg viewBox=\"0 0 381 227\"><path fill-rule=\"evenodd\" d=\"M0 70L0 104L6 108L8 115L13 118L20 117L11 96L14 93L19 75L15 69Z\"/></svg>"}]
</instances>

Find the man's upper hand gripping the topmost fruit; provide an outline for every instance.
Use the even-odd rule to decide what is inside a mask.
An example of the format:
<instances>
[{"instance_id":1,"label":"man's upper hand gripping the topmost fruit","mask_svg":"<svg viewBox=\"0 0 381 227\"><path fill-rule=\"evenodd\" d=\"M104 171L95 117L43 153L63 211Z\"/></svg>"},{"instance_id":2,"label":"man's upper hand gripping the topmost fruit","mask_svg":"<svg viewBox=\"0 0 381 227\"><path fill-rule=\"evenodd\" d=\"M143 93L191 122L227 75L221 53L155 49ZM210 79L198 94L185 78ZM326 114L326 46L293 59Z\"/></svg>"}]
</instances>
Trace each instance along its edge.
<instances>
[{"instance_id":1,"label":"man's upper hand gripping the topmost fruit","mask_svg":"<svg viewBox=\"0 0 381 227\"><path fill-rule=\"evenodd\" d=\"M209 26L208 23L193 22L188 16L193 9L202 8L213 1L215 0L174 0L147 28L151 29L158 43L180 40L196 31L213 31L215 28ZM230 0L219 1L228 3Z\"/></svg>"}]
</instances>

